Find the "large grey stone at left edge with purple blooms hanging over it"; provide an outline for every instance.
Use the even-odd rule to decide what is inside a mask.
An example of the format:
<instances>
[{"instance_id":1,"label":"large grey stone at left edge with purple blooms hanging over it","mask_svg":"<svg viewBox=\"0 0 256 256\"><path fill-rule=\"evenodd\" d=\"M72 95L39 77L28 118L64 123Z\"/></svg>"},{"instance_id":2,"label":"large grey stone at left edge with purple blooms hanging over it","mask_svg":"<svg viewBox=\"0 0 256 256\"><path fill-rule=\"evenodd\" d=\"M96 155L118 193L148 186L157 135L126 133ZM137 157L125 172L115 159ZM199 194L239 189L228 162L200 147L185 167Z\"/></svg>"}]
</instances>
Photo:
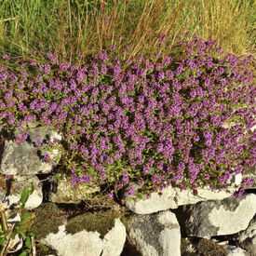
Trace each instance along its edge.
<instances>
[{"instance_id":1,"label":"large grey stone at left edge with purple blooms hanging over it","mask_svg":"<svg viewBox=\"0 0 256 256\"><path fill-rule=\"evenodd\" d=\"M34 175L37 173L48 173L52 170L51 163L44 161L44 155L48 154L51 162L57 165L61 159L60 144L55 145L52 152L48 150L37 150L34 146L37 139L46 144L53 138L61 139L61 135L49 128L19 128L15 135L20 136L22 132L28 133L28 138L21 145L16 141L5 141L2 155L0 172L7 175Z\"/></svg>"}]
</instances>

